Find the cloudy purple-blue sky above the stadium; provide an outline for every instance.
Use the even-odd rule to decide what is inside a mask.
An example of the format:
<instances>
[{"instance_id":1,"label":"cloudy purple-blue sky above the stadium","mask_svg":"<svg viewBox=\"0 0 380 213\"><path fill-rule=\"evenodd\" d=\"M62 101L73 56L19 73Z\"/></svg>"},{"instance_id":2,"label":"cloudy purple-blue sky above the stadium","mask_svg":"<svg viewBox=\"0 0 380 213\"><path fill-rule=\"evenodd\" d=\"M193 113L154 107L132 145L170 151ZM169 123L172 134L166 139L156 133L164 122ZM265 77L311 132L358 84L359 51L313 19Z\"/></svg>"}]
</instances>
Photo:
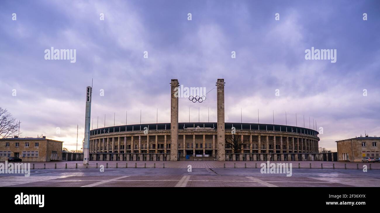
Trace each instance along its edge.
<instances>
[{"instance_id":1,"label":"cloudy purple-blue sky above the stadium","mask_svg":"<svg viewBox=\"0 0 380 213\"><path fill-rule=\"evenodd\" d=\"M180 98L179 122L189 108L190 122L198 108L200 122L216 122L224 78L226 122L257 123L259 110L260 123L274 112L295 126L297 113L336 151L337 140L380 136L379 12L375 0L3 0L0 107L21 121L20 137L75 150L92 79L91 129L139 124L140 110L142 123L170 122L171 79L209 92L203 103ZM76 50L75 63L45 60L52 47ZM312 47L336 50L336 63L306 60Z\"/></svg>"}]
</instances>

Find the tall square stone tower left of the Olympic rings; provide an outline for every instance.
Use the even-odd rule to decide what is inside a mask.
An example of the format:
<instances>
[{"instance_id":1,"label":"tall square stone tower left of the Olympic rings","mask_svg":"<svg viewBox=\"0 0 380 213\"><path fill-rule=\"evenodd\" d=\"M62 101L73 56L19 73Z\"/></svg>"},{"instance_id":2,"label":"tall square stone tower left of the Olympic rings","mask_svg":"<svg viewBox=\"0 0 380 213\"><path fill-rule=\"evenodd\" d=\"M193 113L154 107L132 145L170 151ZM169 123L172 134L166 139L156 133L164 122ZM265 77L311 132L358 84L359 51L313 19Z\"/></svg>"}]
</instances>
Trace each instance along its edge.
<instances>
[{"instance_id":1,"label":"tall square stone tower left of the Olympic rings","mask_svg":"<svg viewBox=\"0 0 380 213\"><path fill-rule=\"evenodd\" d=\"M172 79L170 83L171 108L170 108L170 160L177 161L178 155L178 92L179 83Z\"/></svg>"}]
</instances>

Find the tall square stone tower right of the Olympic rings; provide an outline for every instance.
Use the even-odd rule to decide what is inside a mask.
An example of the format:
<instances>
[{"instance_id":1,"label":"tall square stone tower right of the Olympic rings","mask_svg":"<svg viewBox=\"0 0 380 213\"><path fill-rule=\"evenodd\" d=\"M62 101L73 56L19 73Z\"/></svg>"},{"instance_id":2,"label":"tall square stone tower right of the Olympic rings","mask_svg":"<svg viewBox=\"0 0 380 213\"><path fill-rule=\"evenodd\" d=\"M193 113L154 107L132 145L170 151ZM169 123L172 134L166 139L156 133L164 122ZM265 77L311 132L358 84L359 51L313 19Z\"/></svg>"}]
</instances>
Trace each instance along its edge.
<instances>
[{"instance_id":1,"label":"tall square stone tower right of the Olympic rings","mask_svg":"<svg viewBox=\"0 0 380 213\"><path fill-rule=\"evenodd\" d=\"M217 141L218 159L225 160L225 127L224 127L224 79L218 79L217 83Z\"/></svg>"}]
</instances>

